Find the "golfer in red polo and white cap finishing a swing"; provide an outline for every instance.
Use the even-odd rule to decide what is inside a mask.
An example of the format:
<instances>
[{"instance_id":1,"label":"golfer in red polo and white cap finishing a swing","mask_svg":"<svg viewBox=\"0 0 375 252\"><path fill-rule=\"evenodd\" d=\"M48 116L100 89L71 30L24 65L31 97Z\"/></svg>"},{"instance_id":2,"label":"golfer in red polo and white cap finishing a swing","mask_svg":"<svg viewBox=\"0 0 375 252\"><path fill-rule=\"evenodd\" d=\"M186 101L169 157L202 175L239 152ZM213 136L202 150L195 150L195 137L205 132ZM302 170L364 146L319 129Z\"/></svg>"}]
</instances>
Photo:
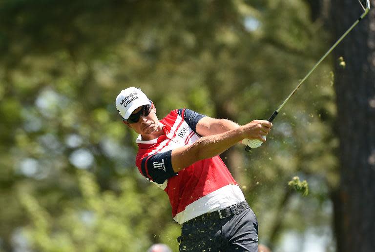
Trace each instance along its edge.
<instances>
[{"instance_id":1,"label":"golfer in red polo and white cap finishing a swing","mask_svg":"<svg viewBox=\"0 0 375 252\"><path fill-rule=\"evenodd\" d=\"M172 216L182 224L180 252L257 252L258 221L218 155L244 138L265 141L272 123L239 126L187 108L159 120L135 87L120 92L116 108L139 134L139 172L168 194Z\"/></svg>"}]
</instances>

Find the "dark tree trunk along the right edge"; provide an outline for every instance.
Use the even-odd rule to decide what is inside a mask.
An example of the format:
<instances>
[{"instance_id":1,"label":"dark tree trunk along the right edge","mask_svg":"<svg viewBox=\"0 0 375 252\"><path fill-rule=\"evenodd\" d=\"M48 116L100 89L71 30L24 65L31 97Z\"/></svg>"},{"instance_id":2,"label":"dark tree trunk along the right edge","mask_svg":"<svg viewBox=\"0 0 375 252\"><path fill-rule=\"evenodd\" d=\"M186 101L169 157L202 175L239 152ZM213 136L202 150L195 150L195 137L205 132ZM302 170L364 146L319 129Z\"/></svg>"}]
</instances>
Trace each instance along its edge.
<instances>
[{"instance_id":1,"label":"dark tree trunk along the right edge","mask_svg":"<svg viewBox=\"0 0 375 252\"><path fill-rule=\"evenodd\" d=\"M335 40L361 9L356 0L333 0L331 7ZM333 194L338 252L375 251L375 0L371 7L333 51L341 168Z\"/></svg>"}]
</instances>

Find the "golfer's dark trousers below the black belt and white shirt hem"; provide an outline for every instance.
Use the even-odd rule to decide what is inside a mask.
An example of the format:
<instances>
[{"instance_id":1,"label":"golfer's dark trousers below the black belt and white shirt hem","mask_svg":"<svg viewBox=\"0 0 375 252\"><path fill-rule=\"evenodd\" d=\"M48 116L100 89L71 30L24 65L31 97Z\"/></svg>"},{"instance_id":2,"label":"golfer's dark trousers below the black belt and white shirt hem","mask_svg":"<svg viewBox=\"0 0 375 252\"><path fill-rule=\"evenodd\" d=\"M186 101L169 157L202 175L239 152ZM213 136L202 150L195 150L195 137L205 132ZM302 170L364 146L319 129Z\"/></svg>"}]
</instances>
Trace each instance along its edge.
<instances>
[{"instance_id":1,"label":"golfer's dark trousers below the black belt and white shirt hem","mask_svg":"<svg viewBox=\"0 0 375 252\"><path fill-rule=\"evenodd\" d=\"M257 252L258 220L251 208L223 219L205 213L185 222L177 241L180 252Z\"/></svg>"}]
</instances>

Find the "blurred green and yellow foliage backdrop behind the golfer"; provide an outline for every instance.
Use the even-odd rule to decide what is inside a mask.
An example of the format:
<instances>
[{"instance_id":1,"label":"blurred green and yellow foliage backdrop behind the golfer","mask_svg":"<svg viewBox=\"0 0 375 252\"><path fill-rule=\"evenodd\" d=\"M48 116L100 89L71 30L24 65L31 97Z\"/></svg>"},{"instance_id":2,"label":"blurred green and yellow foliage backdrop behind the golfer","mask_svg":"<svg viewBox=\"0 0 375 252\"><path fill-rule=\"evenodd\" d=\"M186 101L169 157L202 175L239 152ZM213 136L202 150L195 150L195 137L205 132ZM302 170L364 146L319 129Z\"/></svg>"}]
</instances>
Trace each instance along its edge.
<instances>
[{"instance_id":1,"label":"blurred green and yellow foliage backdrop behind the golfer","mask_svg":"<svg viewBox=\"0 0 375 252\"><path fill-rule=\"evenodd\" d=\"M144 252L156 242L177 251L180 227L167 195L137 171L136 136L115 97L140 87L160 118L182 107L240 124L268 118L330 46L317 15L326 5L314 6L1 1L0 251ZM275 252L303 251L311 238L335 250L333 80L326 60L267 143L222 155L258 216L260 242ZM294 175L309 182L308 197L290 191Z\"/></svg>"}]
</instances>

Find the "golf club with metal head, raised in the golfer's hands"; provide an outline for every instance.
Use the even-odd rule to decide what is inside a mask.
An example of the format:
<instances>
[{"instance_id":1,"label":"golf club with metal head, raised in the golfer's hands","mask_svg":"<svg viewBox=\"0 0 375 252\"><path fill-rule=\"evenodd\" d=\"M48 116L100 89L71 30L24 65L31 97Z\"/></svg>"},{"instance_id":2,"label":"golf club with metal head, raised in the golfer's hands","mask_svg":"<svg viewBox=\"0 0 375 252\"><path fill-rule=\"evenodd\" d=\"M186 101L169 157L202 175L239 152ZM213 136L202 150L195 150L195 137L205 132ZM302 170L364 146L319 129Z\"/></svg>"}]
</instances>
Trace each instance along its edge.
<instances>
[{"instance_id":1,"label":"golf club with metal head, raised in the golfer's hands","mask_svg":"<svg viewBox=\"0 0 375 252\"><path fill-rule=\"evenodd\" d=\"M284 100L284 102L280 105L280 107L278 107L274 112L273 114L271 115L271 117L268 119L270 122L277 116L277 114L279 114L280 110L284 107L284 105L289 101L289 99L294 95L294 93L297 91L297 89L302 85L302 83L307 79L309 78L309 76L311 75L311 73L315 70L315 68L320 64L320 62L322 62L331 52L332 50L338 45L338 43L341 42L342 39L345 38L346 35L348 35L348 33L350 33L354 26L358 24L358 22L360 20L362 20L366 15L367 13L369 12L370 10L370 0L358 0L359 3L361 4L362 6L362 9L363 9L363 14L354 22L354 24L339 38L337 39L337 41L333 44L333 46L326 52L325 55L323 55L322 58L319 59L319 61L312 67L312 69L310 70L310 72L299 82L299 84L294 88L294 90L292 91L292 93ZM244 139L243 140L243 143L246 144L247 146L245 147L245 150L246 151L250 151L251 149L253 148L257 148L259 146L262 145L262 141L259 140L259 139Z\"/></svg>"}]
</instances>

